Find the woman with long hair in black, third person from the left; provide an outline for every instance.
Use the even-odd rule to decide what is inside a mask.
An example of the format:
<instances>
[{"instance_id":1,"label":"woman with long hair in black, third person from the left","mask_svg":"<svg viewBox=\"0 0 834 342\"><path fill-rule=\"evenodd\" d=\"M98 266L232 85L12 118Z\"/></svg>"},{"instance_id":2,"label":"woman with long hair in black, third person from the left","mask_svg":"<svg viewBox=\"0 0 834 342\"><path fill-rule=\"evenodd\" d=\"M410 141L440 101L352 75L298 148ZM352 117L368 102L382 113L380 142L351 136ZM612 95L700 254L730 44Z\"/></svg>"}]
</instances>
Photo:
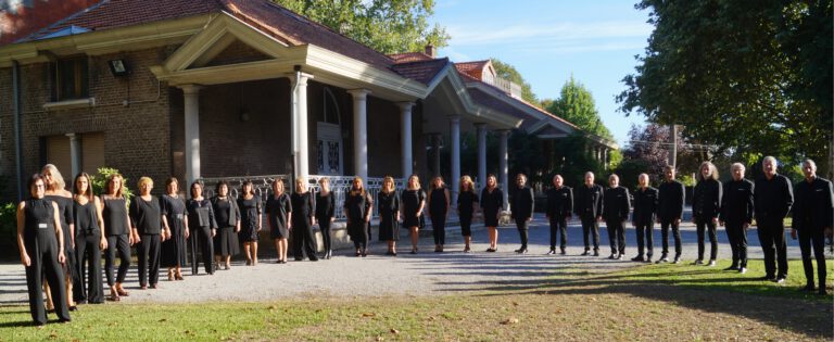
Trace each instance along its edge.
<instances>
[{"instance_id":1,"label":"woman with long hair in black, third person from the left","mask_svg":"<svg viewBox=\"0 0 834 342\"><path fill-rule=\"evenodd\" d=\"M104 218L101 215L101 200L92 194L92 183L87 173L75 176L75 201L73 216L75 217L75 252L78 278L80 279L80 297L78 303L104 303L104 289L101 279L101 251L108 248L104 237ZM85 263L86 262L86 263ZM89 266L89 274L87 274ZM85 281L87 274L87 281Z\"/></svg>"}]
</instances>

